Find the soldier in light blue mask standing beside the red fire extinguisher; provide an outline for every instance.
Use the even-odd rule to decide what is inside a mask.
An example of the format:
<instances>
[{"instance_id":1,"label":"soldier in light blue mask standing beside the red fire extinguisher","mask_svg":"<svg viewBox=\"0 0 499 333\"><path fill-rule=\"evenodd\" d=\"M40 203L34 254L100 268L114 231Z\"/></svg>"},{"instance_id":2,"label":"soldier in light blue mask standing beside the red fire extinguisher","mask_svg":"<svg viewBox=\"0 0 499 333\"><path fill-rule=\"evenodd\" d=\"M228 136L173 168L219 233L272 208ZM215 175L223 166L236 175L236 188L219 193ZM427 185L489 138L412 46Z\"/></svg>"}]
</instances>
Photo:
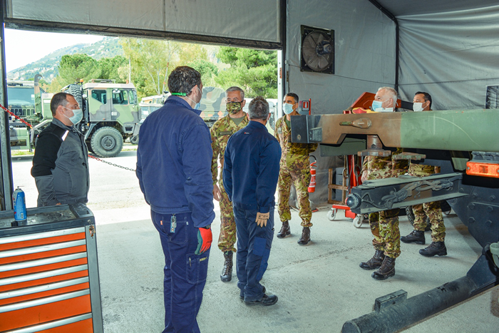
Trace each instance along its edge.
<instances>
[{"instance_id":1,"label":"soldier in light blue mask standing beside the red fire extinguisher","mask_svg":"<svg viewBox=\"0 0 499 333\"><path fill-rule=\"evenodd\" d=\"M302 237L298 240L299 245L307 245L310 241L310 227L312 227L312 210L310 209L308 187L310 183L309 153L317 149L317 143L292 143L291 116L299 115L297 112L299 98L296 93L288 93L284 96L284 116L279 118L275 124L274 135L281 145L282 155L279 170L279 182L277 191L279 193L279 217L282 228L277 233L278 238L291 235L289 220L289 191L291 184L297 190L297 203L299 206L299 217L302 218Z\"/></svg>"}]
</instances>

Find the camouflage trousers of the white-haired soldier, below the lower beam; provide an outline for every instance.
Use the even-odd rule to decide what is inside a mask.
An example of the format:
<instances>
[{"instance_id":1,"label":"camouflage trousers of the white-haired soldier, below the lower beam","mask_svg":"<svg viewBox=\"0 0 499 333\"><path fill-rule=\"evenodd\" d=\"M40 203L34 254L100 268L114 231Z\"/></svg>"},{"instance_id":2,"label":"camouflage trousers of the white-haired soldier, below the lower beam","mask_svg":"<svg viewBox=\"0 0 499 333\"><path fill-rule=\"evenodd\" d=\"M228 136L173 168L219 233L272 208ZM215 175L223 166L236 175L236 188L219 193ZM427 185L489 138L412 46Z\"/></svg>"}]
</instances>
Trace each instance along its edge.
<instances>
[{"instance_id":1,"label":"camouflage trousers of the white-haired soldier, below the lower beam","mask_svg":"<svg viewBox=\"0 0 499 333\"><path fill-rule=\"evenodd\" d=\"M400 231L398 230L398 208L371 212L369 225L374 236L374 249L396 258L400 255Z\"/></svg>"}]
</instances>

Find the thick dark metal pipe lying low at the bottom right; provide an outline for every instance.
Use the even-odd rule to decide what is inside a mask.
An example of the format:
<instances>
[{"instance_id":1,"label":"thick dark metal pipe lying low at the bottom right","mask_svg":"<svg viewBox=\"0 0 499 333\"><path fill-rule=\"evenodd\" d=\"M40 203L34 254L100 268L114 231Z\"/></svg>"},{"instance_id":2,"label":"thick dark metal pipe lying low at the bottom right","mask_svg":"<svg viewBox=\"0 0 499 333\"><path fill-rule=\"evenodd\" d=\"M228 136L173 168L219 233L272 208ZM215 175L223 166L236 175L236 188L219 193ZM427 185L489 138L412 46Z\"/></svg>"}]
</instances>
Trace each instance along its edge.
<instances>
[{"instance_id":1,"label":"thick dark metal pipe lying low at the bottom right","mask_svg":"<svg viewBox=\"0 0 499 333\"><path fill-rule=\"evenodd\" d=\"M411 297L400 304L349 320L343 324L341 332L396 332L437 312L441 312L443 309L463 302L472 295L475 288L473 280L467 276L461 277L458 280Z\"/></svg>"}]
</instances>

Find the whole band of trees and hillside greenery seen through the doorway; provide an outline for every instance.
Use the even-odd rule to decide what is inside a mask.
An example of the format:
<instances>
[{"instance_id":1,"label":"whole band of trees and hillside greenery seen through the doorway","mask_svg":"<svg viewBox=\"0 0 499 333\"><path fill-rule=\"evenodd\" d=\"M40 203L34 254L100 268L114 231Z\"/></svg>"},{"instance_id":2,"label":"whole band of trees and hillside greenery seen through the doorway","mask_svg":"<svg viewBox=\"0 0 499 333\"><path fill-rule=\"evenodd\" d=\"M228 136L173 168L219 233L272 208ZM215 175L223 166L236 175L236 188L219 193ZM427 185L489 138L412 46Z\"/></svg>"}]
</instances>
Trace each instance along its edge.
<instances>
[{"instance_id":1,"label":"whole band of trees and hillside greenery seen through the doorway","mask_svg":"<svg viewBox=\"0 0 499 333\"><path fill-rule=\"evenodd\" d=\"M249 98L277 98L277 51L158 39L106 37L97 43L62 48L16 73L31 80L41 73L51 81L41 82L41 86L51 93L80 79L108 78L124 83L130 77L140 99L168 91L168 75L183 65L201 73L203 86L240 86Z\"/></svg>"}]
</instances>

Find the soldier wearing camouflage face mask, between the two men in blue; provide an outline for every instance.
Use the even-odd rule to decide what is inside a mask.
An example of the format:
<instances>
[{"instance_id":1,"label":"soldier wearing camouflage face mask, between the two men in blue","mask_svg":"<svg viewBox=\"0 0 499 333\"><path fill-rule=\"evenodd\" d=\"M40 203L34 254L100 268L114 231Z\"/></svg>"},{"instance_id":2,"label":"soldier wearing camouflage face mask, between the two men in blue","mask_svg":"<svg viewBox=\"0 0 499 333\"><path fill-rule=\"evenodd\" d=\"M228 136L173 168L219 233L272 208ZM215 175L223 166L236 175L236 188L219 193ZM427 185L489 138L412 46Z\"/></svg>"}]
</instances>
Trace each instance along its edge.
<instances>
[{"instance_id":1,"label":"soldier wearing camouflage face mask, between the two men in blue","mask_svg":"<svg viewBox=\"0 0 499 333\"><path fill-rule=\"evenodd\" d=\"M218 180L218 160L220 169L223 169L225 147L230 136L238 130L245 128L249 123L247 114L242 111L245 106L245 92L239 87L230 87L225 91L227 116L216 121L210 133L212 136L212 176L213 176L213 198L220 202L220 237L218 238L218 248L224 253L224 267L220 280L229 282L232 280L232 254L236 251L236 223L232 204L229 201L222 183L222 175ZM219 187L220 186L220 187Z\"/></svg>"}]
</instances>

